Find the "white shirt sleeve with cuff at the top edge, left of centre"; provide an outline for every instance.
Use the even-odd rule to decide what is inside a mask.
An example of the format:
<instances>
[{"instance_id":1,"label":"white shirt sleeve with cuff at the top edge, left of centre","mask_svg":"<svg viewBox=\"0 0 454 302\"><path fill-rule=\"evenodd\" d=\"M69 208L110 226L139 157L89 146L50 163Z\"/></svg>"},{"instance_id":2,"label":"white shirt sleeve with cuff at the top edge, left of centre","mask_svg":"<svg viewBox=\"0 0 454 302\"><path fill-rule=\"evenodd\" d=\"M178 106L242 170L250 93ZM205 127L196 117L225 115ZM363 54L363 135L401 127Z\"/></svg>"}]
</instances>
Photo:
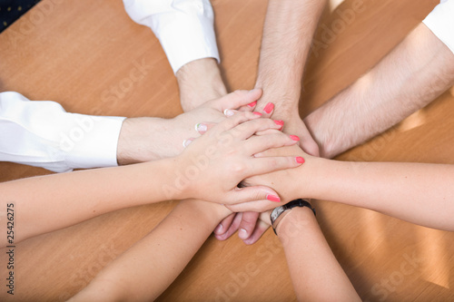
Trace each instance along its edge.
<instances>
[{"instance_id":1,"label":"white shirt sleeve with cuff at the top edge, left of centre","mask_svg":"<svg viewBox=\"0 0 454 302\"><path fill-rule=\"evenodd\" d=\"M133 21L150 27L176 73L185 63L219 53L210 0L123 0Z\"/></svg>"}]
</instances>

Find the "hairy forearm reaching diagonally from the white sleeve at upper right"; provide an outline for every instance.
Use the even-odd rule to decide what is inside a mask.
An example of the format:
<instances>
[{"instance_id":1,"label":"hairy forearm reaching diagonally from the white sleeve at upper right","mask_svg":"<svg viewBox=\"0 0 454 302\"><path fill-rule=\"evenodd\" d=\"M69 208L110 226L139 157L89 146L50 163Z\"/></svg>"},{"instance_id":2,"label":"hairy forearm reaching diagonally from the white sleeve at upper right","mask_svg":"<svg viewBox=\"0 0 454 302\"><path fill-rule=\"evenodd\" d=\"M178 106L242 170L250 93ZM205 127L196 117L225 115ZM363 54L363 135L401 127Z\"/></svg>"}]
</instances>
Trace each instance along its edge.
<instances>
[{"instance_id":1,"label":"hairy forearm reaching diagonally from the white sleeve at upper right","mask_svg":"<svg viewBox=\"0 0 454 302\"><path fill-rule=\"evenodd\" d=\"M419 110L454 83L454 54L425 24L379 64L304 119L331 158Z\"/></svg>"}]
</instances>

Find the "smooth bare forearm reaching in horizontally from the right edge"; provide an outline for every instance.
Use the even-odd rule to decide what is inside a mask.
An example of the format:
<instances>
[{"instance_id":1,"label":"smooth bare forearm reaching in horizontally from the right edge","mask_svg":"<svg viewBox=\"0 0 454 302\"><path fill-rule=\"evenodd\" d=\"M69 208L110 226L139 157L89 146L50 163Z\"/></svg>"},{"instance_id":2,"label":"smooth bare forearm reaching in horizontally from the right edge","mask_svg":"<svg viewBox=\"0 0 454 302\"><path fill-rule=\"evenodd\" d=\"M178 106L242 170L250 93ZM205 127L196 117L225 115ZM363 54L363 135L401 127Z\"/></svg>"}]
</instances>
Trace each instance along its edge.
<instances>
[{"instance_id":1,"label":"smooth bare forearm reaching in horizontally from the right edge","mask_svg":"<svg viewBox=\"0 0 454 302\"><path fill-rule=\"evenodd\" d=\"M310 197L377 210L429 228L454 230L454 166L316 161L320 161L313 166L316 170L306 178Z\"/></svg>"}]
</instances>

